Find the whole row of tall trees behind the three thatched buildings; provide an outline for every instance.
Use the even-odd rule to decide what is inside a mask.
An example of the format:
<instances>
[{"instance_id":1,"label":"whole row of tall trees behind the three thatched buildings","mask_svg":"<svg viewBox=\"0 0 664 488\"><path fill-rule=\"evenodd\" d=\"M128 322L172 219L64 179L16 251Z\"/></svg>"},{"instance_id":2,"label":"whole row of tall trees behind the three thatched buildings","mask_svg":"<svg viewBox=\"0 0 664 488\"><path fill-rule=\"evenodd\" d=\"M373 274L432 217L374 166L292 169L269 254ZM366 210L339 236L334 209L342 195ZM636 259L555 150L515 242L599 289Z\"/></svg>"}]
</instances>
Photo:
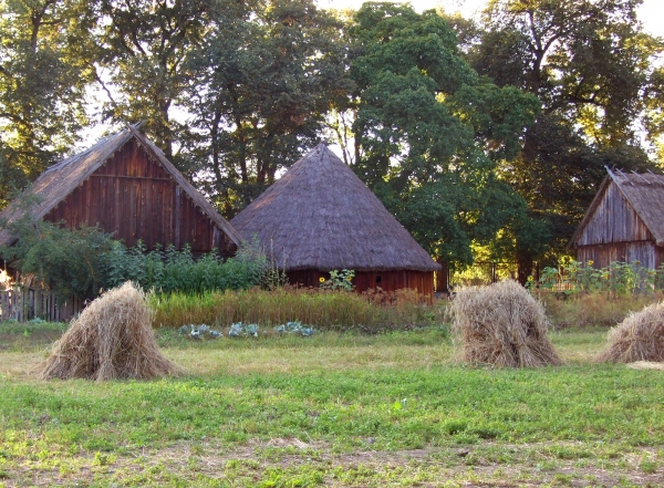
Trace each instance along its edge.
<instances>
[{"instance_id":1,"label":"whole row of tall trees behind the three thatched buildings","mask_svg":"<svg viewBox=\"0 0 664 488\"><path fill-rule=\"evenodd\" d=\"M484 246L527 272L563 252L605 165L657 166L664 44L640 3L491 0L474 21L391 2L1 2L0 208L96 122L146 121L227 217L330 139L432 255Z\"/></svg>"}]
</instances>

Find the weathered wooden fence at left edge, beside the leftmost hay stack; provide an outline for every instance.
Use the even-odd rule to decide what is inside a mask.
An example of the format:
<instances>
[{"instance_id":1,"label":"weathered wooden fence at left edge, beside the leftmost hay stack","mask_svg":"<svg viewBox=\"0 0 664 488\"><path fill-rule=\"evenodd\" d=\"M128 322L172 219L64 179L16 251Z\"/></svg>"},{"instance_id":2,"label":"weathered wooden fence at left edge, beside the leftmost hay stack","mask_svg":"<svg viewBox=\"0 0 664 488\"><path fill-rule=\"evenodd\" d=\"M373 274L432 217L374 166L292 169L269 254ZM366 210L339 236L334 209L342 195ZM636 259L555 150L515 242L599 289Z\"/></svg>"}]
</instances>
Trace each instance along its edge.
<instances>
[{"instance_id":1,"label":"weathered wooden fence at left edge, beside the leftmost hay stack","mask_svg":"<svg viewBox=\"0 0 664 488\"><path fill-rule=\"evenodd\" d=\"M0 321L27 322L42 319L49 322L69 322L83 310L84 303L75 298L59 304L51 291L32 288L0 290Z\"/></svg>"}]
</instances>

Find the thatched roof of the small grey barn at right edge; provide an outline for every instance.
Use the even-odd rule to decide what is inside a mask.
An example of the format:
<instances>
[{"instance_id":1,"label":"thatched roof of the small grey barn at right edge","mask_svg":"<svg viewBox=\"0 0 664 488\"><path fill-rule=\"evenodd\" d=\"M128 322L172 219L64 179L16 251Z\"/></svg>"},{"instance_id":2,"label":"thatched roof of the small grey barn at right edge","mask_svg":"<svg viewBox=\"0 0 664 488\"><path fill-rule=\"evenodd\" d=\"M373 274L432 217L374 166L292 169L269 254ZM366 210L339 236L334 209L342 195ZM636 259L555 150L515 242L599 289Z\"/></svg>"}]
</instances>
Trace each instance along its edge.
<instances>
[{"instance_id":1,"label":"thatched roof of the small grey barn at right edge","mask_svg":"<svg viewBox=\"0 0 664 488\"><path fill-rule=\"evenodd\" d=\"M634 208L634 211L643 220L651 233L654 236L657 246L664 246L664 176L653 173L637 174L612 172L600 185L592 204L588 208L583 220L577 227L572 235L568 249L575 246L581 237L583 229L592 218L595 208L600 205L610 184L615 184L627 203Z\"/></svg>"}]
</instances>

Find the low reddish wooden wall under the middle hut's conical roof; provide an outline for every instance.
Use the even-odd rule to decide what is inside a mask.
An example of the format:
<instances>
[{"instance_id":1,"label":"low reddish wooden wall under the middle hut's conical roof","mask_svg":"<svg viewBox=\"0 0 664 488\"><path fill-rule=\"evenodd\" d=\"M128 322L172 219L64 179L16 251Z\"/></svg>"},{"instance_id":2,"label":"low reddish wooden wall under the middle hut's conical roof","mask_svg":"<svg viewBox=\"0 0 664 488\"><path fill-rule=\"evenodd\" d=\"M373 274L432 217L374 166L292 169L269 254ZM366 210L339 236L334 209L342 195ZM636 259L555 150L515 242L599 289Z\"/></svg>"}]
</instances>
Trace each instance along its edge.
<instances>
[{"instance_id":1,"label":"low reddish wooden wall under the middle hut's conical roof","mask_svg":"<svg viewBox=\"0 0 664 488\"><path fill-rule=\"evenodd\" d=\"M289 271L289 282L302 287L318 288L320 278L330 278L324 271L301 270ZM417 290L429 298L434 297L434 272L424 271L360 271L353 278L355 291L363 292L381 287L384 291L395 291L404 288Z\"/></svg>"}]
</instances>

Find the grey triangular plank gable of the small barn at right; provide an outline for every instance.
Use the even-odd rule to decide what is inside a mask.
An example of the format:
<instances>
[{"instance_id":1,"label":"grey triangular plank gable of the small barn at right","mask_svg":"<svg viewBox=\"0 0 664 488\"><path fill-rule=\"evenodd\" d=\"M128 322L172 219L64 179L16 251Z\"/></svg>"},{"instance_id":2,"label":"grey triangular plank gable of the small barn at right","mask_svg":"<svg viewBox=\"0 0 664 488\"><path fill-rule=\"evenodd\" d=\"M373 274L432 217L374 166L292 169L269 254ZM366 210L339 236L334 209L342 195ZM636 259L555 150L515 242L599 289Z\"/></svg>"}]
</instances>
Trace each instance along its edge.
<instances>
[{"instance_id":1,"label":"grey triangular plank gable of the small barn at right","mask_svg":"<svg viewBox=\"0 0 664 488\"><path fill-rule=\"evenodd\" d=\"M577 241L578 246L654 240L643 220L627 203L615 183L610 183L590 221Z\"/></svg>"}]
</instances>

